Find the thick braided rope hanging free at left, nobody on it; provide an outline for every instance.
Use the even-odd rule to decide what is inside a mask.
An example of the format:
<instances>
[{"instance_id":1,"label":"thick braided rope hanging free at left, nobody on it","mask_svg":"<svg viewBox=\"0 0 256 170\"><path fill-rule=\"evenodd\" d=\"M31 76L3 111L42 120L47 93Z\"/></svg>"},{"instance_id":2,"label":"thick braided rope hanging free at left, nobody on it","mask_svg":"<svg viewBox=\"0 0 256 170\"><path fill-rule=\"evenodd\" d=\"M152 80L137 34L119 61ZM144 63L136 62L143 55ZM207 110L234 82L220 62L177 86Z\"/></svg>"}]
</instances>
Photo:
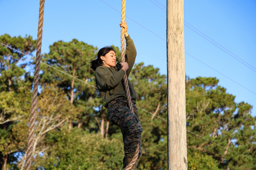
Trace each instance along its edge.
<instances>
[{"instance_id":1,"label":"thick braided rope hanging free at left, nobody on it","mask_svg":"<svg viewBox=\"0 0 256 170\"><path fill-rule=\"evenodd\" d=\"M28 134L28 149L26 155L25 169L29 170L31 165L31 156L33 151L33 139L34 139L34 128L35 128L35 116L36 116L36 103L38 93L38 79L39 79L39 68L41 59L41 46L42 46L42 34L43 34L43 21L44 21L44 3L45 0L40 0L39 8L39 21L38 21L38 33L37 33L37 47L36 47L36 64L34 73L34 87L33 97L31 102L31 114L29 122L29 134Z\"/></svg>"}]
</instances>

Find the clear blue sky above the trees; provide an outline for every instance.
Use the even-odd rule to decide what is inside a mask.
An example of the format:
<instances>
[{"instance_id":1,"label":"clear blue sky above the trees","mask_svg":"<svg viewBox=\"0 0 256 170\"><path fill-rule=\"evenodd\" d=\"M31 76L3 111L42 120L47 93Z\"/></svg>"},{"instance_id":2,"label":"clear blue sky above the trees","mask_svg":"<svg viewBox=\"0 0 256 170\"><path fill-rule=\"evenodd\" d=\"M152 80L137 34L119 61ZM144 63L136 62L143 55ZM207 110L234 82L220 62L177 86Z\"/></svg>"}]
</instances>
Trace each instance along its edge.
<instances>
[{"instance_id":1,"label":"clear blue sky above the trees","mask_svg":"<svg viewBox=\"0 0 256 170\"><path fill-rule=\"evenodd\" d=\"M107 45L120 47L121 13L118 11L122 1L103 1L46 1L42 53L48 53L49 45L58 40L73 38L99 49ZM128 33L137 49L136 63L153 65L161 74L167 74L165 7L166 0L126 2ZM24 37L27 34L37 38L39 0L0 0L0 11L1 35ZM219 85L236 96L236 102L245 101L256 107L256 1L185 0L184 20L186 75L217 77ZM188 26L231 51L232 56ZM256 116L255 108L252 115Z\"/></svg>"}]
</instances>

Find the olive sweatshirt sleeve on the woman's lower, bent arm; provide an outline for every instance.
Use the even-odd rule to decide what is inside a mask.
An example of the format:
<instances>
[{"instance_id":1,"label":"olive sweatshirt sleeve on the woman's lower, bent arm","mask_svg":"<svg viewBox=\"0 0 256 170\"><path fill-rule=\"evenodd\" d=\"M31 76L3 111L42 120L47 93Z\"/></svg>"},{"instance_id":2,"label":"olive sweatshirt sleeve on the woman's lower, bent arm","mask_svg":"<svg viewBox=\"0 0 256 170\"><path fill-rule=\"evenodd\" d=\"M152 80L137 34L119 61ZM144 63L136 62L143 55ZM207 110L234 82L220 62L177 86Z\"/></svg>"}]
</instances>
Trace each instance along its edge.
<instances>
[{"instance_id":1,"label":"olive sweatshirt sleeve on the woman's lower, bent arm","mask_svg":"<svg viewBox=\"0 0 256 170\"><path fill-rule=\"evenodd\" d=\"M97 87L99 89L113 88L121 82L124 75L125 71L123 69L113 74L109 68L100 66L95 70Z\"/></svg>"}]
</instances>

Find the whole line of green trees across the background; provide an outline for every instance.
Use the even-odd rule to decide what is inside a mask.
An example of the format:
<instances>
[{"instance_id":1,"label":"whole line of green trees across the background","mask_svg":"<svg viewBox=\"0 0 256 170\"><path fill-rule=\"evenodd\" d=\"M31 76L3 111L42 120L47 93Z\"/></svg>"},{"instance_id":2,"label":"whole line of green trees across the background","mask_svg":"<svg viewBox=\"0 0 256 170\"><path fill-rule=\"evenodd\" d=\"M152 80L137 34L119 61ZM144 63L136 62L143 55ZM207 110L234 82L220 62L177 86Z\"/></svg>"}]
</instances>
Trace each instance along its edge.
<instances>
[{"instance_id":1,"label":"whole line of green trees across the background","mask_svg":"<svg viewBox=\"0 0 256 170\"><path fill-rule=\"evenodd\" d=\"M4 34L0 42L22 52L0 45L0 169L25 169L35 64L28 56L35 52L36 40ZM113 47L121 59L119 48ZM41 61L73 77L40 66L31 169L120 169L122 134L92 87L90 61L98 48L76 39L49 48ZM137 63L129 79L143 127L137 169L167 169L166 75ZM256 169L252 106L234 99L216 77L186 78L189 170Z\"/></svg>"}]
</instances>

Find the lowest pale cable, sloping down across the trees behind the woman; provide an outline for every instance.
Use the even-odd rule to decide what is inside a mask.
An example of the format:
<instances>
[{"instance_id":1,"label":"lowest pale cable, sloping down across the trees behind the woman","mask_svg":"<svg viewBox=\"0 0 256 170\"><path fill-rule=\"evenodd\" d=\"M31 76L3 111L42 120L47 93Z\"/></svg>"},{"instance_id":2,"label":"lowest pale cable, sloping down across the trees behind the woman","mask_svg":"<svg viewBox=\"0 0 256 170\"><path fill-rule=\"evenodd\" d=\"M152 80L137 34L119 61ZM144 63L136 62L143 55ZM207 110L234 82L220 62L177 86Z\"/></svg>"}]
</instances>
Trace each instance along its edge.
<instances>
[{"instance_id":1,"label":"lowest pale cable, sloping down across the trees behind the woman","mask_svg":"<svg viewBox=\"0 0 256 170\"><path fill-rule=\"evenodd\" d=\"M12 48L12 47L9 47L9 46L7 46L7 45L1 43L1 42L0 42L0 44L4 45L4 46L6 46L6 47L8 47L8 48L10 48L10 49L13 49L13 50L17 51L18 53L21 53L21 54L23 54L23 55L25 55L25 56L28 55L28 54L25 54L25 53L23 53L23 52L21 52L21 51L19 51L19 50L14 49L14 48ZM193 56L192 56L192 57L193 57ZM34 57L30 57L30 58L35 60ZM51 68L53 68L53 69L55 69L55 70L57 70L57 71L59 71L59 72L61 72L61 73L64 73L64 74L66 74L66 75L68 75L68 76L70 76L70 77L72 77L72 78L74 78L74 79L76 79L76 80L78 80L78 81L81 81L81 82L83 82L83 83L85 83L85 84L87 84L87 85L89 85L89 86L94 87L94 88L97 89L97 87L95 87L95 86L93 86L93 85L90 85L90 84L88 84L87 82L84 82L84 81L82 81L82 80L80 80L80 79L78 79L78 78L76 78L76 77L74 77L74 76L72 76L72 75L70 75L70 74L68 74L68 73L65 73L65 72L63 72L63 71L61 71L61 70L59 70L59 69L57 69L57 68L54 68L54 67L50 66L49 64L46 64L46 63L44 63L44 62L42 62L42 61L40 61L40 62L41 62L42 64L45 64L45 65L48 66L48 67L51 67ZM137 107L138 109L141 109L142 111L144 111L144 112L146 112L146 113L149 113L149 114L151 114L151 115L154 115L153 113L148 112L148 111L145 110L145 109L142 109L142 108L140 108L140 107L138 107L138 106L136 106L136 107ZM159 119L162 119L162 120L164 120L164 121L167 122L166 119L164 119L164 118L162 118L162 117L160 117L160 116L155 115L155 117L157 117L157 118L159 118ZM230 152L233 152L233 153L235 153L235 154L237 154L237 155L243 156L243 155L238 154L238 153L236 153L236 152L234 152L234 151L232 151L232 150L230 150L230 149L228 149L228 148L225 148L225 147L219 145L218 143L215 143L215 142L213 142L213 141L211 141L211 140L209 140L209 139L206 139L206 138L204 138L204 137L202 137L202 136L200 136L200 135L198 135L198 134L196 134L196 133L194 133L194 132L191 132L190 130L186 130L186 131L189 132L189 133L191 133L191 134L193 134L193 135L196 135L196 136L198 136L198 137L200 137L200 138L202 138L202 139L204 139L204 140L207 140L208 142L211 142L211 143L213 143L213 144L215 144L215 145L217 145L217 146L219 146L219 147L221 147L221 148L227 149L227 150L230 151ZM248 159L248 160L250 160L250 159Z\"/></svg>"}]
</instances>

